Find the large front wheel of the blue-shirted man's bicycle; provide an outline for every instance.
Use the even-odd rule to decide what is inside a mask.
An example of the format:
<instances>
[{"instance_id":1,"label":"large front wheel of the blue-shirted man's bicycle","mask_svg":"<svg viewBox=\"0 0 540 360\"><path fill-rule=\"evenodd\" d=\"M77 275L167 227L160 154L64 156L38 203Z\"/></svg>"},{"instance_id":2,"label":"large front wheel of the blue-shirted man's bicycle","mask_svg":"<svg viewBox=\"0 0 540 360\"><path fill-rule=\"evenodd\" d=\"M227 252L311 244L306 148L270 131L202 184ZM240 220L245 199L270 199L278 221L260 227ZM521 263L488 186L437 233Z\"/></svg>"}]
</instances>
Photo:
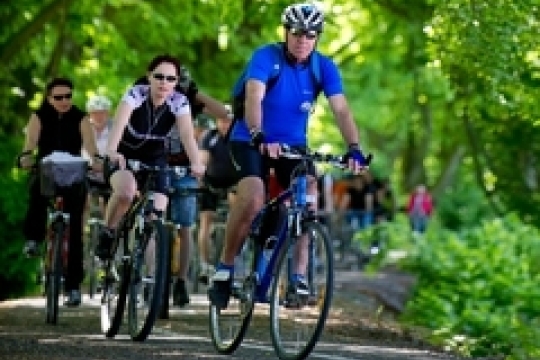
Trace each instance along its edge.
<instances>
[{"instance_id":1,"label":"large front wheel of the blue-shirted man's bicycle","mask_svg":"<svg viewBox=\"0 0 540 360\"><path fill-rule=\"evenodd\" d=\"M332 243L326 228L306 222L307 244L291 242L278 263L270 295L272 344L280 359L298 360L309 356L324 329L333 292ZM307 248L306 280L309 295L298 295L289 288L296 246ZM306 250L304 250L306 251Z\"/></svg>"}]
</instances>

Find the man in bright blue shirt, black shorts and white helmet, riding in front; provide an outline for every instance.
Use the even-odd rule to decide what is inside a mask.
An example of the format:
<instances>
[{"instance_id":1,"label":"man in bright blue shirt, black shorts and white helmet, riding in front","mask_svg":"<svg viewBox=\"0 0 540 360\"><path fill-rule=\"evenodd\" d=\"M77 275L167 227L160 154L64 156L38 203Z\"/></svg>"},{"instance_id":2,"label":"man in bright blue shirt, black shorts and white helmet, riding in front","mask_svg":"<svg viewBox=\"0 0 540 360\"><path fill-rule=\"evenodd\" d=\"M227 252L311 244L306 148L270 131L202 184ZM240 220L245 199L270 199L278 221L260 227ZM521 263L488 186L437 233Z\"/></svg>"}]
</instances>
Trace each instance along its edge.
<instances>
[{"instance_id":1,"label":"man in bright blue shirt, black shorts and white helmet, riding in front","mask_svg":"<svg viewBox=\"0 0 540 360\"><path fill-rule=\"evenodd\" d=\"M321 88L328 99L337 125L348 144L348 166L360 172L368 165L358 146L358 129L343 93L339 70L328 57L315 50L323 30L324 14L309 3L293 4L282 14L285 42L280 46L285 61L276 64L276 46L255 50L246 69L245 111L230 134L230 149L239 172L237 198L227 223L225 247L208 295L212 304L227 307L234 257L245 239L253 218L265 201L264 179L274 168L280 185L289 185L296 160L279 158L280 144L307 147L308 118ZM313 76L310 57L317 56L321 84ZM279 77L275 77L276 67ZM272 85L269 82L272 81ZM263 156L265 154L265 156ZM268 160L270 159L270 160ZM317 183L312 167L308 194L316 198ZM316 208L317 204L313 204ZM307 294L304 273L307 266L307 241L300 241L295 254L292 291Z\"/></svg>"}]
</instances>

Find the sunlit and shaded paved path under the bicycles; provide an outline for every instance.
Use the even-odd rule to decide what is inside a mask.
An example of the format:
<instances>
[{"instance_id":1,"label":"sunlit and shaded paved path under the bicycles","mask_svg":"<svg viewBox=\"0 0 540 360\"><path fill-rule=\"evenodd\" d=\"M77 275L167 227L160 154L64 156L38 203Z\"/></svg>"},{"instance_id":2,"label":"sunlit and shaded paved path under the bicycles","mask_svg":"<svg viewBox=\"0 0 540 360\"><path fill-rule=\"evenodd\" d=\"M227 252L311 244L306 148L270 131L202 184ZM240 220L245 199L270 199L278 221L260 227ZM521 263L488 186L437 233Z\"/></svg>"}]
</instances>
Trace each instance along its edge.
<instances>
[{"instance_id":1,"label":"sunlit and shaded paved path under the bicycles","mask_svg":"<svg viewBox=\"0 0 540 360\"><path fill-rule=\"evenodd\" d=\"M353 278L360 277L349 275L349 281ZM310 359L456 359L404 333L391 316L376 315L373 299L342 285L338 282L331 315ZM61 307L58 325L45 323L41 297L5 301L0 303L0 359L276 359L267 309L258 309L240 348L224 356L217 354L209 337L206 296L192 295L191 300L183 309L172 308L169 319L158 320L142 343L129 338L125 325L114 339L105 338L97 299L85 297L78 308Z\"/></svg>"}]
</instances>

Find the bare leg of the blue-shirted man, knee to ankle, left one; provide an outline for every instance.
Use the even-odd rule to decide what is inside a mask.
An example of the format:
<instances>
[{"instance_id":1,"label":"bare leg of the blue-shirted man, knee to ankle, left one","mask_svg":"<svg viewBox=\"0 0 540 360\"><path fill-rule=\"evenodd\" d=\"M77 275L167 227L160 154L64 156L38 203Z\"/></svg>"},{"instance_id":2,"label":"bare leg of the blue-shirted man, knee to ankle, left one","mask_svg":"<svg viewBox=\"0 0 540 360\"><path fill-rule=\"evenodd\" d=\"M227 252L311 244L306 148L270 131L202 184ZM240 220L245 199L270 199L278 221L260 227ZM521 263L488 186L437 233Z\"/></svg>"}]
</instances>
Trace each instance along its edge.
<instances>
[{"instance_id":1,"label":"bare leg of the blue-shirted man, knee to ankle, left one","mask_svg":"<svg viewBox=\"0 0 540 360\"><path fill-rule=\"evenodd\" d=\"M264 204L264 184L255 176L242 179L238 183L235 206L231 208L225 230L225 246L221 262L232 266L238 249L249 232L251 222Z\"/></svg>"}]
</instances>

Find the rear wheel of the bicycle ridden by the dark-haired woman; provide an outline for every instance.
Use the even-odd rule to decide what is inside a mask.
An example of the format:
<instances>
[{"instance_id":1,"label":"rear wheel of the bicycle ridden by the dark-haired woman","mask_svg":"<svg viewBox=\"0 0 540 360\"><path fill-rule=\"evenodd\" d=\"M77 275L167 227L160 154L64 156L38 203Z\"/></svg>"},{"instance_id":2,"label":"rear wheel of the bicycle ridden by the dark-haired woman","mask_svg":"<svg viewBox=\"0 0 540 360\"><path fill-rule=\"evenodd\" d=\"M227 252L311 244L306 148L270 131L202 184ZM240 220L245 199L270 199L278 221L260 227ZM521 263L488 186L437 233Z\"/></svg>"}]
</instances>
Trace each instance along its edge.
<instances>
[{"instance_id":1,"label":"rear wheel of the bicycle ridden by the dark-haired woman","mask_svg":"<svg viewBox=\"0 0 540 360\"><path fill-rule=\"evenodd\" d=\"M121 239L124 245L126 238ZM131 263L124 254L118 254L117 246L115 255L105 264L105 278L101 289L101 331L107 338L113 338L118 334L124 317L127 291L131 278Z\"/></svg>"}]
</instances>

